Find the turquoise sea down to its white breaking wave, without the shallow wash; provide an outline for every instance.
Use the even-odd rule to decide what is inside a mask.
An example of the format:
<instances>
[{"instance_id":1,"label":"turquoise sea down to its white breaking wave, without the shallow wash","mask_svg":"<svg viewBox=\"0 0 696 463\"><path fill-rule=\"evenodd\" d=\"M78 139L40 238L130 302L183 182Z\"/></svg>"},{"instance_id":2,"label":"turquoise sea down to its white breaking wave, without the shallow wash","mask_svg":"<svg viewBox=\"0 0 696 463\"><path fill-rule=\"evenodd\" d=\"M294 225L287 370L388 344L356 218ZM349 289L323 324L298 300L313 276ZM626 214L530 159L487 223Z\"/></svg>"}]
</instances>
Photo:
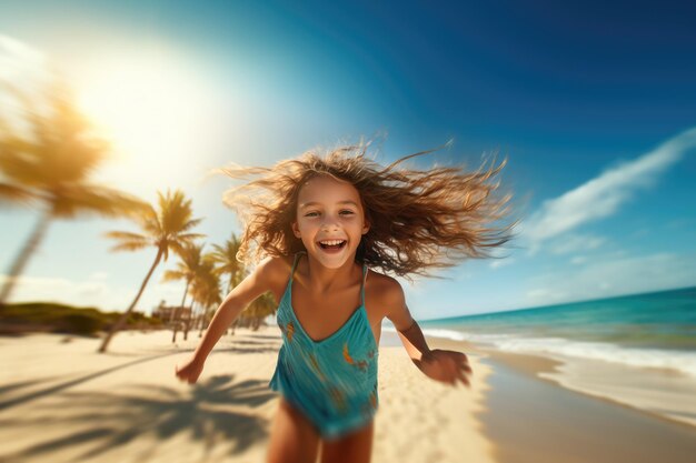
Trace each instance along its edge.
<instances>
[{"instance_id":1,"label":"turquoise sea down to its white breaking wave, without the shallow wash","mask_svg":"<svg viewBox=\"0 0 696 463\"><path fill-rule=\"evenodd\" d=\"M696 288L419 321L430 336L696 378Z\"/></svg>"}]
</instances>

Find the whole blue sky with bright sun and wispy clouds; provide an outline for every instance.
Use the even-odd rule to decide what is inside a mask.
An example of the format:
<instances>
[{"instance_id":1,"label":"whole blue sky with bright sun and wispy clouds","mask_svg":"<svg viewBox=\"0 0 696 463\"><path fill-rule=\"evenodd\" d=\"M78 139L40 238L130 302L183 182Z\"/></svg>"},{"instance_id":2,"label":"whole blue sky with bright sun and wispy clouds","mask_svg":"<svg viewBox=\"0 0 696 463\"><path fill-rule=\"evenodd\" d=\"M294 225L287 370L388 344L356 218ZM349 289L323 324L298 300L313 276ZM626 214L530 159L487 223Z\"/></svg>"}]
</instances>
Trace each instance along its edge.
<instances>
[{"instance_id":1,"label":"whole blue sky with bright sun and wispy clouds","mask_svg":"<svg viewBox=\"0 0 696 463\"><path fill-rule=\"evenodd\" d=\"M523 218L508 258L404 283L421 320L696 283L694 7L231 3L3 2L0 76L60 69L113 125L98 179L149 200L185 189L209 243L239 231L229 183L207 177L228 162L376 134L382 162L449 139L419 165L507 155ZM0 210L4 269L37 217ZM155 250L110 253L108 230L136 229L53 223L16 300L125 310ZM172 264L140 310L180 301L181 284L159 283Z\"/></svg>"}]
</instances>

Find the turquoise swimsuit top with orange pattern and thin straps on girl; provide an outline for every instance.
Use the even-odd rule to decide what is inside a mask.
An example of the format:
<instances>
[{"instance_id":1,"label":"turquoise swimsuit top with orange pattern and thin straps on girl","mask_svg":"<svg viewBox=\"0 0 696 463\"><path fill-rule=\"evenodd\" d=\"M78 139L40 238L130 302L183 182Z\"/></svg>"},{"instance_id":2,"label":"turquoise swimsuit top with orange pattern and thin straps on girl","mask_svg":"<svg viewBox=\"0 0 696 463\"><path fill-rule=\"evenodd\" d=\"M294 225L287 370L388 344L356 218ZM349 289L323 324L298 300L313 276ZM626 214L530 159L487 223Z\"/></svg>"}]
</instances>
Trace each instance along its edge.
<instances>
[{"instance_id":1,"label":"turquoise swimsuit top with orange pattern and thin straps on girl","mask_svg":"<svg viewBox=\"0 0 696 463\"><path fill-rule=\"evenodd\" d=\"M379 405L379 352L365 309L367 265L362 265L360 306L338 331L315 341L292 309L292 276L298 255L278 304L276 318L284 342L268 385L302 412L322 439L337 439L367 425Z\"/></svg>"}]
</instances>

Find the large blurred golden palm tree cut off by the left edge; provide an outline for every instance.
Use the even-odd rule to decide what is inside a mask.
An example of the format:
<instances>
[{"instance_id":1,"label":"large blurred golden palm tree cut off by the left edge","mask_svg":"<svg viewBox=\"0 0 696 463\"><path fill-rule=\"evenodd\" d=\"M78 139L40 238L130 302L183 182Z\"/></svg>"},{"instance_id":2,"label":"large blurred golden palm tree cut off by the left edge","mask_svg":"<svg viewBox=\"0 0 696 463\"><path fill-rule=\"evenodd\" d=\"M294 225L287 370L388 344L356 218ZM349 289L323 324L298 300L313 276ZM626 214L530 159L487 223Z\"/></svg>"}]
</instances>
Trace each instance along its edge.
<instances>
[{"instance_id":1,"label":"large blurred golden palm tree cut off by the left edge","mask_svg":"<svg viewBox=\"0 0 696 463\"><path fill-rule=\"evenodd\" d=\"M0 201L39 205L41 213L20 249L0 290L0 311L10 299L18 278L54 219L86 214L119 217L145 207L136 197L90 182L107 158L108 144L91 132L70 93L56 87L39 104L9 84L26 112L30 135L20 134L0 119Z\"/></svg>"}]
</instances>

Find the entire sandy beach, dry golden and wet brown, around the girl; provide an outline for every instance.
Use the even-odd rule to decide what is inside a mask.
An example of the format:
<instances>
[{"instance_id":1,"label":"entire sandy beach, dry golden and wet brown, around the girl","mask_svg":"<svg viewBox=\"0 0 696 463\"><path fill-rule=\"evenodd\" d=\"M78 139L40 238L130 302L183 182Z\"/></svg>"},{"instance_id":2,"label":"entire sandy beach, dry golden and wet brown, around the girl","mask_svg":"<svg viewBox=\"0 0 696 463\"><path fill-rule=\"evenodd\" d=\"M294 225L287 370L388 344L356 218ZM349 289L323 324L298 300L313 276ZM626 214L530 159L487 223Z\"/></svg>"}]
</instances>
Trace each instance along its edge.
<instances>
[{"instance_id":1,"label":"entire sandy beach, dry golden and wet brown, around the girl","mask_svg":"<svg viewBox=\"0 0 696 463\"><path fill-rule=\"evenodd\" d=\"M268 389L280 332L225 335L195 385L175 365L198 332L98 339L0 338L0 461L262 462L278 395ZM394 333L379 354L372 462L690 461L696 427L560 387L547 359L428 338L466 352L471 389L436 383Z\"/></svg>"}]
</instances>

